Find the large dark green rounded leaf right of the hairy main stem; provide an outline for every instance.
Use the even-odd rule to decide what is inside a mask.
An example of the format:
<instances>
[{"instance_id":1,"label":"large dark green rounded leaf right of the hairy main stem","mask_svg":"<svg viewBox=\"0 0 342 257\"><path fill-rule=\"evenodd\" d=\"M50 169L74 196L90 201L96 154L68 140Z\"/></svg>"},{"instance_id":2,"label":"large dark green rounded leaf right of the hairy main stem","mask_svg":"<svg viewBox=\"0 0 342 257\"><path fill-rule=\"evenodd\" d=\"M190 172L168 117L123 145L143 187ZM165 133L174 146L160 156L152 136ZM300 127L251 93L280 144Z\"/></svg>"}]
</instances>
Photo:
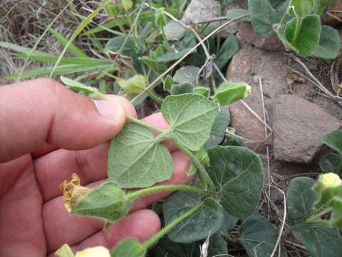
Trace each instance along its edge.
<instances>
[{"instance_id":1,"label":"large dark green rounded leaf right of the hairy main stem","mask_svg":"<svg viewBox=\"0 0 342 257\"><path fill-rule=\"evenodd\" d=\"M257 209L263 173L253 151L239 146L216 146L208 150L209 176L217 186L224 209L235 217L248 217Z\"/></svg>"}]
</instances>

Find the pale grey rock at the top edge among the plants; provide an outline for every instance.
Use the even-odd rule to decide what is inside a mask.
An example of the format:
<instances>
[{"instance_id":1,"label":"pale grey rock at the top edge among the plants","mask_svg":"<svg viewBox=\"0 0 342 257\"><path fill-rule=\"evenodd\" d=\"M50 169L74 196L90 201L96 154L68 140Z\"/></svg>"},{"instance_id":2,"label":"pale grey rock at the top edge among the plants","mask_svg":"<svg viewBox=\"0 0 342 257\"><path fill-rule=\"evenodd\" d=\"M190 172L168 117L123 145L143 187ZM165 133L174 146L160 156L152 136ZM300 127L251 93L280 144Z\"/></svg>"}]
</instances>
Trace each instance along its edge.
<instances>
[{"instance_id":1,"label":"pale grey rock at the top edge among the plants","mask_svg":"<svg viewBox=\"0 0 342 257\"><path fill-rule=\"evenodd\" d=\"M185 10L182 21L191 24L199 21L207 21L219 16L221 16L221 4L219 4L219 1L192 0ZM217 27L219 23L213 22L211 25Z\"/></svg>"}]
</instances>

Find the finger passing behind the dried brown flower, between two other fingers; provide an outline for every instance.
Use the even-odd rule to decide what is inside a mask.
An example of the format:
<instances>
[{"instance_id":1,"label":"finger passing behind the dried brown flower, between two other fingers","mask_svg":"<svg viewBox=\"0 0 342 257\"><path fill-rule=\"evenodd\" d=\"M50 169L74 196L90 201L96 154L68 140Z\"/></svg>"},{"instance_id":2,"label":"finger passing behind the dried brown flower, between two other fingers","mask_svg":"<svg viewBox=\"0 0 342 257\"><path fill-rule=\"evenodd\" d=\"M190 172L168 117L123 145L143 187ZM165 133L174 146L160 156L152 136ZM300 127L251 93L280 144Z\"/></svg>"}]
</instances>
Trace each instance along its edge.
<instances>
[{"instance_id":1,"label":"finger passing behind the dried brown flower, between two other fingers","mask_svg":"<svg viewBox=\"0 0 342 257\"><path fill-rule=\"evenodd\" d=\"M172 153L172 160L175 163L174 173L169 181L163 183L176 184L189 181L191 178L186 175L187 168L190 165L189 158L187 158L184 153L175 151ZM98 185L101 182L104 181L95 184ZM140 199L136 201L133 208L135 210L138 208L145 208L145 206L150 205L152 201L157 201L167 193L170 192L158 193ZM93 235L93 233L100 231L100 229L103 228L103 223L99 220L70 215L63 206L62 196L53 198L43 205L43 221L46 240L52 248L60 246L63 242L71 244L76 243L84 238L88 238ZM66 231L68 231L68 236L65 235ZM66 239L68 241L66 241Z\"/></svg>"}]
</instances>

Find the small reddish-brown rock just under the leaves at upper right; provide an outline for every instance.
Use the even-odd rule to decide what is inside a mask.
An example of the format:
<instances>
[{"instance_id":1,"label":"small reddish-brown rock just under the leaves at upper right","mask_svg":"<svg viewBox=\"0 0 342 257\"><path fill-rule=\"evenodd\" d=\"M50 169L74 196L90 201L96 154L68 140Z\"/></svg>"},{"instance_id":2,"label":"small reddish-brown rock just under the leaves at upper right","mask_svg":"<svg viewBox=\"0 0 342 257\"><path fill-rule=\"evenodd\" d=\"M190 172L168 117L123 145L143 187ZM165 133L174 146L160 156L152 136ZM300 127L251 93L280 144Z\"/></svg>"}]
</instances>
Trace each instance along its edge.
<instances>
[{"instance_id":1,"label":"small reddish-brown rock just under the leaves at upper right","mask_svg":"<svg viewBox=\"0 0 342 257\"><path fill-rule=\"evenodd\" d=\"M285 46L281 43L278 36L274 35L268 39L264 39L254 33L251 23L247 21L240 22L237 37L260 49L268 51L285 51Z\"/></svg>"}]
</instances>

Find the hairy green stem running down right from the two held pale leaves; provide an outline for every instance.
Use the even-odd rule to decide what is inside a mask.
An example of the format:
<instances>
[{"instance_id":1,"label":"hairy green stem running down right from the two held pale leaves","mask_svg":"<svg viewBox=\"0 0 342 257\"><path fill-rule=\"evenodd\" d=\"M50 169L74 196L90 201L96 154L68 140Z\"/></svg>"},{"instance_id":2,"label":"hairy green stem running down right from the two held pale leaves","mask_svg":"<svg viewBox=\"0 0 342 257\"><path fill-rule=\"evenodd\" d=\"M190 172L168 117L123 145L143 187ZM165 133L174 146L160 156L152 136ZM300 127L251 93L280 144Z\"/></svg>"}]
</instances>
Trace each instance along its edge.
<instances>
[{"instance_id":1,"label":"hairy green stem running down right from the two held pale leaves","mask_svg":"<svg viewBox=\"0 0 342 257\"><path fill-rule=\"evenodd\" d=\"M180 151L185 153L190 158L192 163L195 164L199 178L201 179L204 186L209 184L211 193L214 196L216 194L214 182L212 182L212 178L209 177L207 171L205 171L205 169L203 168L202 164L198 161L196 156L194 156L192 152L188 148L183 146L182 143L180 143L176 138L169 138L169 139L172 141L172 143L175 143L175 145L180 149Z\"/></svg>"}]
</instances>

